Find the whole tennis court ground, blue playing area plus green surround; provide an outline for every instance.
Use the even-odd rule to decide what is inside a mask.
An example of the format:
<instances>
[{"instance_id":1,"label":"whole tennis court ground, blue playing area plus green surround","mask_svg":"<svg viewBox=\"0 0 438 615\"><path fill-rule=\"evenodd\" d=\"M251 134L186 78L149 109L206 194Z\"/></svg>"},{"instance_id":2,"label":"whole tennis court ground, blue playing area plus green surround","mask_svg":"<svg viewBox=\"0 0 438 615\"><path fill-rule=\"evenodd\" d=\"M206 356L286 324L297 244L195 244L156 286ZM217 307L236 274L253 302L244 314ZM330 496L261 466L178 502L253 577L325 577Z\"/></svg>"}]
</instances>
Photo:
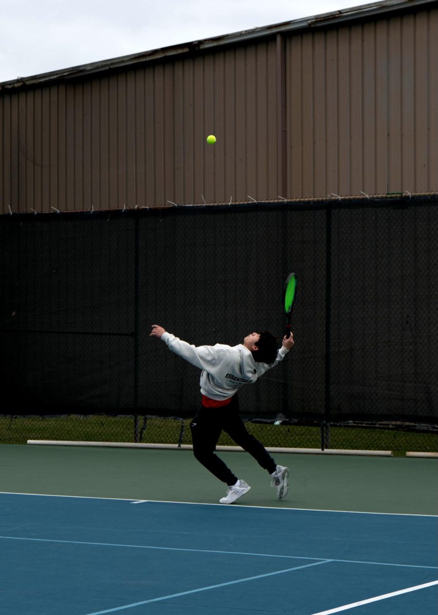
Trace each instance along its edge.
<instances>
[{"instance_id":1,"label":"whole tennis court ground, blue playing area plus green surround","mask_svg":"<svg viewBox=\"0 0 438 615\"><path fill-rule=\"evenodd\" d=\"M253 488L241 504L221 506L205 503L221 485L189 451L3 445L0 453L4 615L436 613L434 459L285 454L290 496L263 506L274 496L260 469L223 453ZM332 498L322 486L329 474ZM355 476L379 512L334 509L347 491L359 504ZM92 484L98 497L84 496ZM28 493L10 493L12 485ZM415 514L384 512L397 491L400 509ZM181 501L157 501L159 493Z\"/></svg>"}]
</instances>

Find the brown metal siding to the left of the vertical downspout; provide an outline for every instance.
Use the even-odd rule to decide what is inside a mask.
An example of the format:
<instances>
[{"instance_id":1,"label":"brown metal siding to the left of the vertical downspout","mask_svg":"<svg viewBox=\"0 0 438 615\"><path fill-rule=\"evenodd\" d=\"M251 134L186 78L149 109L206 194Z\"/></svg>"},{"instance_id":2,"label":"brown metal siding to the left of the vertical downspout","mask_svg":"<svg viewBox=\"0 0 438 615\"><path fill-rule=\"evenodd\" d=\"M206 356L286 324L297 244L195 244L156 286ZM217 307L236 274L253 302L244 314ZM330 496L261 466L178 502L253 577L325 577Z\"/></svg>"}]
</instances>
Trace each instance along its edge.
<instances>
[{"instance_id":1,"label":"brown metal siding to the left of the vertical downspout","mask_svg":"<svg viewBox=\"0 0 438 615\"><path fill-rule=\"evenodd\" d=\"M276 197L276 101L275 41L6 93L3 211Z\"/></svg>"}]
</instances>

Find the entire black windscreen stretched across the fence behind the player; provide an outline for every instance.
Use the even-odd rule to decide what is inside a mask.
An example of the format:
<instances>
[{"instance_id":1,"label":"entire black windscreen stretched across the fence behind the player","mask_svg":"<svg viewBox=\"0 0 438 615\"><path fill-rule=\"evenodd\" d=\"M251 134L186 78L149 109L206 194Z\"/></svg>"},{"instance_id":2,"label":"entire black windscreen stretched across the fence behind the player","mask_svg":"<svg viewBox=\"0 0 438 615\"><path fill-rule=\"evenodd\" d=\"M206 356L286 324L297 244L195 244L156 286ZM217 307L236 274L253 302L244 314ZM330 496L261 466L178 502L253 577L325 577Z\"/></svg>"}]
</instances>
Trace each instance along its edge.
<instances>
[{"instance_id":1,"label":"entire black windscreen stretched across the fence behind the player","mask_svg":"<svg viewBox=\"0 0 438 615\"><path fill-rule=\"evenodd\" d=\"M199 370L151 325L280 339L295 271L296 345L242 416L437 420L436 203L2 216L0 241L4 411L193 416Z\"/></svg>"}]
</instances>

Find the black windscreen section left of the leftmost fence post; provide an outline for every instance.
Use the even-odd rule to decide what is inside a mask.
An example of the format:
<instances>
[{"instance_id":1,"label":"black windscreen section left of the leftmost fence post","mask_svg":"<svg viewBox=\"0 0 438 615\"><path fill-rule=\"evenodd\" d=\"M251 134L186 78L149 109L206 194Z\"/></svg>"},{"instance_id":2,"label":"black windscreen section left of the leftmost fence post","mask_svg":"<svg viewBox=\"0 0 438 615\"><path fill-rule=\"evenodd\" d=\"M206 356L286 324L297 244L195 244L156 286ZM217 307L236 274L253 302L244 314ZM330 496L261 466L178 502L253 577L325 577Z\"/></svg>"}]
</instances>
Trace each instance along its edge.
<instances>
[{"instance_id":1,"label":"black windscreen section left of the leftmost fence post","mask_svg":"<svg viewBox=\"0 0 438 615\"><path fill-rule=\"evenodd\" d=\"M5 410L132 407L134 221L5 218Z\"/></svg>"}]
</instances>

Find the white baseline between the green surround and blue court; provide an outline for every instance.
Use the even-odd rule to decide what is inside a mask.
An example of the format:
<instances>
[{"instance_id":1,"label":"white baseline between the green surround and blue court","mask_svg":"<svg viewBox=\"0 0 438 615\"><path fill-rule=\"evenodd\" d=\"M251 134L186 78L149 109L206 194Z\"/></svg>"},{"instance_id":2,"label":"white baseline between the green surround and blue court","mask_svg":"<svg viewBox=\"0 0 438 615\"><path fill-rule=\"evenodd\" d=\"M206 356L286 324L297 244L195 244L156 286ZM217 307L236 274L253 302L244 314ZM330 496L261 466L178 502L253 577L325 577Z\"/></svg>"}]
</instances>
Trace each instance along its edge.
<instances>
[{"instance_id":1,"label":"white baseline between the green surround and blue court","mask_svg":"<svg viewBox=\"0 0 438 615\"><path fill-rule=\"evenodd\" d=\"M133 498L103 498L99 496L66 496L58 495L54 493L20 493L18 491L0 491L0 495L7 496L38 496L39 498L76 498L76 499L103 499L103 500L115 500L121 502L137 502ZM189 506L219 506L221 509L229 509L230 506L224 506L224 504L215 504L214 502L177 502L172 500L144 500L144 502L151 502L153 504L187 504ZM248 504L233 504L231 508L260 508L266 510L302 510L304 512L340 512L342 514L352 515L387 515L392 517L438 517L438 515L424 515L413 512L370 512L369 510L330 510L324 508L293 508L293 507L276 507L276 506L252 506Z\"/></svg>"}]
</instances>

